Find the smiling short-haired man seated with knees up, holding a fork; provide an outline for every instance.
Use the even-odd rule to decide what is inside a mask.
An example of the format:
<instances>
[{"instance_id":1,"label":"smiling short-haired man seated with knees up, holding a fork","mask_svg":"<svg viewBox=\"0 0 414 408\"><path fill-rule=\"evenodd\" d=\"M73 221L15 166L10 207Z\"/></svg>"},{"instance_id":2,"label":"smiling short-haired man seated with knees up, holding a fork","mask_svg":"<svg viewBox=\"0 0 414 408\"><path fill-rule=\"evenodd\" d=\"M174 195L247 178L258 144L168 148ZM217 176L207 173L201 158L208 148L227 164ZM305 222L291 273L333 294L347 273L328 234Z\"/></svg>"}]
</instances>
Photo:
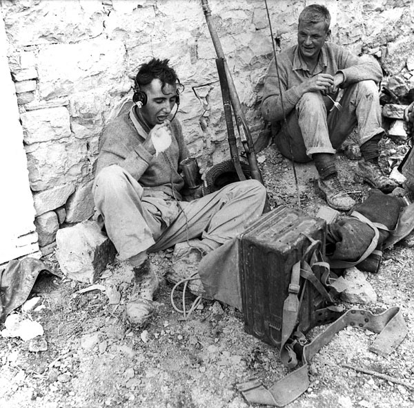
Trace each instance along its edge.
<instances>
[{"instance_id":1,"label":"smiling short-haired man seated with knees up, holding a fork","mask_svg":"<svg viewBox=\"0 0 414 408\"><path fill-rule=\"evenodd\" d=\"M384 192L397 185L378 164L378 142L384 135L377 87L381 68L373 59L358 58L327 42L330 23L324 6L313 4L301 12L297 45L279 54L277 66L273 60L268 68L262 114L282 127L275 135L279 151L301 163L312 159L328 205L346 211L355 201L339 183L334 155L355 125L362 154L355 180ZM342 109L331 109L339 89L344 89Z\"/></svg>"}]
</instances>

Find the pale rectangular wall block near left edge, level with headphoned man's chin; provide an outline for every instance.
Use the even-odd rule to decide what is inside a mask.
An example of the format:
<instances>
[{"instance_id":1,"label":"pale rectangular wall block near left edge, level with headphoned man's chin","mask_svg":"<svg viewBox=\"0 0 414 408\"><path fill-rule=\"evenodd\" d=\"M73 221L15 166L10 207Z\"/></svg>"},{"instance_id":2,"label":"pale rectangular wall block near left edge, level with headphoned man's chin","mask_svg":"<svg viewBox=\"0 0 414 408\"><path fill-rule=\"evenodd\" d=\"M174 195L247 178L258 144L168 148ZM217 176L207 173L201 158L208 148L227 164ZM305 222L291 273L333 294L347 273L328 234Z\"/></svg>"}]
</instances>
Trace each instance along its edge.
<instances>
[{"instance_id":1,"label":"pale rectangular wall block near left edge, level with headphoned man's chin","mask_svg":"<svg viewBox=\"0 0 414 408\"><path fill-rule=\"evenodd\" d=\"M22 113L20 117L28 145L68 138L71 134L69 112L63 106Z\"/></svg>"}]
</instances>

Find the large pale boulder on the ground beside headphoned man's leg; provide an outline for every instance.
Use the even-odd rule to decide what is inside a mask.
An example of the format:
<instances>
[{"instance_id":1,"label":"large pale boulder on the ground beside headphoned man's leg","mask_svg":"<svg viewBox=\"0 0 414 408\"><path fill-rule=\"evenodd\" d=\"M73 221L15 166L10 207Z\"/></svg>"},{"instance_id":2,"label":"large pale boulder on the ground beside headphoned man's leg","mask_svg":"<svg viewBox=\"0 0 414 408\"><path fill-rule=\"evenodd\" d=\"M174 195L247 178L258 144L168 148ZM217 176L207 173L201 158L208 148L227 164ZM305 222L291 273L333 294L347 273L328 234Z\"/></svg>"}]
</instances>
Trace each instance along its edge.
<instances>
[{"instance_id":1,"label":"large pale boulder on the ground beside headphoned man's leg","mask_svg":"<svg viewBox=\"0 0 414 408\"><path fill-rule=\"evenodd\" d=\"M116 250L95 221L61 228L56 236L56 258L64 275L92 284L115 259Z\"/></svg>"}]
</instances>

